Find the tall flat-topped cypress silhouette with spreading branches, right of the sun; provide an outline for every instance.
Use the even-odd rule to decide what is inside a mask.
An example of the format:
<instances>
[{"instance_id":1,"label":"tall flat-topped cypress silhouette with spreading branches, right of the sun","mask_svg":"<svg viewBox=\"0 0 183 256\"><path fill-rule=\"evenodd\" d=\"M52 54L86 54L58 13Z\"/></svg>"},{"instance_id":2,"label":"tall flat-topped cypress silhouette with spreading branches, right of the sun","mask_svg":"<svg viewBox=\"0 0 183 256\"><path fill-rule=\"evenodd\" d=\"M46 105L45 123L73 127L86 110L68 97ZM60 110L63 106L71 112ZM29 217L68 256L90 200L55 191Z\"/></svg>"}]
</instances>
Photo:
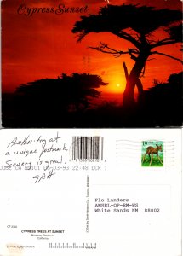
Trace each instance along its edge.
<instances>
[{"instance_id":1,"label":"tall flat-topped cypress silhouette with spreading branches, right of the sun","mask_svg":"<svg viewBox=\"0 0 183 256\"><path fill-rule=\"evenodd\" d=\"M123 106L134 106L134 87L140 89L140 77L145 73L146 61L152 55L164 55L175 61L182 60L157 51L157 47L182 42L182 13L180 10L155 9L153 7L133 4L111 5L101 7L97 15L81 16L72 29L81 42L90 32L111 32L113 35L133 44L126 50L112 49L101 43L98 47L90 47L115 57L129 55L134 60L134 67L129 73L123 95ZM164 38L158 37L158 29L163 28ZM156 49L156 50L155 50Z\"/></svg>"}]
</instances>

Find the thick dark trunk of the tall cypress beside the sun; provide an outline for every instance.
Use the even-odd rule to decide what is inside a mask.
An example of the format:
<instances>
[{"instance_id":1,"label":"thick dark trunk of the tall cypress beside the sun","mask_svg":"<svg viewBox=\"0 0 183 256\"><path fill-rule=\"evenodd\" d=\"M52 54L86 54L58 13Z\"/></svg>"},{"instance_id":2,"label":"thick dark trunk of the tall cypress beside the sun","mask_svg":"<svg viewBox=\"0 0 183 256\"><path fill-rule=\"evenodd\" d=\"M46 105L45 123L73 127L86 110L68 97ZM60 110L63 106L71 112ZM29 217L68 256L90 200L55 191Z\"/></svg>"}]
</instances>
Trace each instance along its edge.
<instances>
[{"instance_id":1,"label":"thick dark trunk of the tall cypress beside the sun","mask_svg":"<svg viewBox=\"0 0 183 256\"><path fill-rule=\"evenodd\" d=\"M134 67L132 68L129 76L129 79L127 80L126 88L124 90L123 94L123 107L129 107L133 108L135 105L134 101L134 87L135 84L137 85L137 88L139 92L141 93L143 91L142 84L140 81L140 73L145 67L146 60L149 56L149 53L140 53L140 55L137 57ZM125 67L124 67L125 69ZM127 74L125 72L125 76L127 78Z\"/></svg>"}]
</instances>

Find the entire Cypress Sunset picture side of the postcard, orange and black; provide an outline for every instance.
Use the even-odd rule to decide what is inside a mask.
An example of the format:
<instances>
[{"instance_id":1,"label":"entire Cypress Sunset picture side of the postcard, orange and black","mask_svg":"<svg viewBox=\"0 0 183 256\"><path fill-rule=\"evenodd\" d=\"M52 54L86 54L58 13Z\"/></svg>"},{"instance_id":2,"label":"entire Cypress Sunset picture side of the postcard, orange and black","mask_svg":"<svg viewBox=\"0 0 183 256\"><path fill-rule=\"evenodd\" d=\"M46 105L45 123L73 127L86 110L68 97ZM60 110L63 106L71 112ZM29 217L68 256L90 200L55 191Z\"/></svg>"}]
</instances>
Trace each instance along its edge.
<instances>
[{"instance_id":1,"label":"entire Cypress Sunset picture side of the postcard, orange and black","mask_svg":"<svg viewBox=\"0 0 183 256\"><path fill-rule=\"evenodd\" d=\"M3 1L3 127L181 125L181 1L137 3Z\"/></svg>"}]
</instances>

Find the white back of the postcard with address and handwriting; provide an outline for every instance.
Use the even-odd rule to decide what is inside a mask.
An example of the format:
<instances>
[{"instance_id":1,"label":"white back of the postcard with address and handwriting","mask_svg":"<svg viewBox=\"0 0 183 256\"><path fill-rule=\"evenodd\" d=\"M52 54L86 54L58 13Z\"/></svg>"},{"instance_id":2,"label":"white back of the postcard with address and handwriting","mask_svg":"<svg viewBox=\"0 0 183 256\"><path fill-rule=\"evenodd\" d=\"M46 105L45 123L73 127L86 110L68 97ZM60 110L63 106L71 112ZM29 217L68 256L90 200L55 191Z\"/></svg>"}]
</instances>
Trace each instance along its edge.
<instances>
[{"instance_id":1,"label":"white back of the postcard with address and handwriting","mask_svg":"<svg viewBox=\"0 0 183 256\"><path fill-rule=\"evenodd\" d=\"M103 137L103 160L73 160L78 137ZM0 141L1 256L181 255L181 129L1 130ZM141 166L146 141L163 142L163 166Z\"/></svg>"}]
</instances>

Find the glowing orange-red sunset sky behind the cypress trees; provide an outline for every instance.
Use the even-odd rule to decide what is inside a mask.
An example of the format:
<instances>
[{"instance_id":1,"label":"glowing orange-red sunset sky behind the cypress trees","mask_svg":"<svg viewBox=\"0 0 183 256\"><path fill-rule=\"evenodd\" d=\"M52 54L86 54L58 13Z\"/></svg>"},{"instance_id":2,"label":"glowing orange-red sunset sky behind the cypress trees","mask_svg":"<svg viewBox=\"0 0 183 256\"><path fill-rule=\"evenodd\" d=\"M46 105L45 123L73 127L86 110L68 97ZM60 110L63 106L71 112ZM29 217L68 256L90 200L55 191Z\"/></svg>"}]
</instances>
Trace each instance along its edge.
<instances>
[{"instance_id":1,"label":"glowing orange-red sunset sky behind the cypress trees","mask_svg":"<svg viewBox=\"0 0 183 256\"><path fill-rule=\"evenodd\" d=\"M129 55L114 58L88 46L105 42L114 49L128 49L129 43L110 33L91 33L77 43L76 35L71 32L80 14L34 14L31 17L18 15L22 0L4 0L2 3L2 87L3 92L14 91L20 84L35 79L57 78L60 73L99 74L109 85L106 92L122 92L125 85L123 61L129 69L134 61ZM96 13L105 0L27 0L27 7L54 7L64 3L66 7L88 5L88 14ZM142 3L159 8L181 9L180 0L111 0L111 4ZM152 20L153 22L153 20ZM161 33L161 32L159 32ZM180 45L161 48L162 52L181 58ZM170 73L181 71L181 64L164 56L148 61L146 76L142 80L145 89L152 85L153 79L165 81Z\"/></svg>"}]
</instances>

